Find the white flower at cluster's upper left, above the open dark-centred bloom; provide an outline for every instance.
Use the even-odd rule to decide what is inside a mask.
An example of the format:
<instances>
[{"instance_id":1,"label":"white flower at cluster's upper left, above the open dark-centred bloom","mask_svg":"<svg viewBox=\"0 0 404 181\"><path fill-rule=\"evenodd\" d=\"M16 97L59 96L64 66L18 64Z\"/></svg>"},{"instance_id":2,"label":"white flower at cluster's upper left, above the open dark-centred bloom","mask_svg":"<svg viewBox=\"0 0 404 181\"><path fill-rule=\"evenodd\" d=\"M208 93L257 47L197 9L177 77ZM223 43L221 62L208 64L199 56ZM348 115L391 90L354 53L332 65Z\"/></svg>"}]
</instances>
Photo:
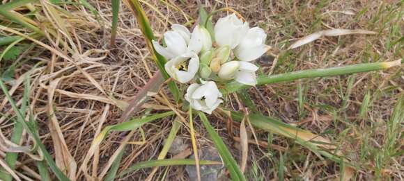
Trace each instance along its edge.
<instances>
[{"instance_id":1,"label":"white flower at cluster's upper left, above the open dark-centred bloom","mask_svg":"<svg viewBox=\"0 0 404 181\"><path fill-rule=\"evenodd\" d=\"M212 46L212 40L210 40L210 35L205 28L196 26L192 34L189 33L185 26L180 24L173 24L171 29L171 31L164 33L166 47L152 40L157 53L168 60L187 51L194 51L194 53L198 54L201 49L210 49Z\"/></svg>"}]
</instances>

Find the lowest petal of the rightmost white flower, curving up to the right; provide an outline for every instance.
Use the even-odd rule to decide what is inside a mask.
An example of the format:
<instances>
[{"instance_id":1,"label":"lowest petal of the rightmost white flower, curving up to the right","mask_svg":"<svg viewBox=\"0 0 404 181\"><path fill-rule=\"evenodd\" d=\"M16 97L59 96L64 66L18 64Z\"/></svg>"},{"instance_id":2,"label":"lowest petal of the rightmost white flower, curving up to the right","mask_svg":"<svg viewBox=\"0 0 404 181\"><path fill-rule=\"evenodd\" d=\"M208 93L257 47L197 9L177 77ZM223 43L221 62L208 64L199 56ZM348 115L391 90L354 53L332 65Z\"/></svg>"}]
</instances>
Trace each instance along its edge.
<instances>
[{"instance_id":1,"label":"lowest petal of the rightmost white flower, curving up to the right","mask_svg":"<svg viewBox=\"0 0 404 181\"><path fill-rule=\"evenodd\" d=\"M237 57L239 60L249 62L252 60L256 60L257 58L260 58L261 55L263 55L269 49L270 46L261 44L259 46L249 47L245 49L240 49L239 47L236 47L233 52L235 57Z\"/></svg>"}]
</instances>

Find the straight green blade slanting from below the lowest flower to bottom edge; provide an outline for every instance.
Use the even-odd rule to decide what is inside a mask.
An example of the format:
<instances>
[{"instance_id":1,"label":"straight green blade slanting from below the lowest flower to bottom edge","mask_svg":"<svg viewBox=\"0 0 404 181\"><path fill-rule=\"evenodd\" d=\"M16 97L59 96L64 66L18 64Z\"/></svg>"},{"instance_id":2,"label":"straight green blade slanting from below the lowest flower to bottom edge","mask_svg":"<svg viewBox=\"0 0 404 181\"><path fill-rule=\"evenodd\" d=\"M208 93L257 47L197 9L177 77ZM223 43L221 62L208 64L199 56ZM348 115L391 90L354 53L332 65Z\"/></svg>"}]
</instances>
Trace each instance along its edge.
<instances>
[{"instance_id":1,"label":"straight green blade slanting from below the lowest flower to bottom edge","mask_svg":"<svg viewBox=\"0 0 404 181\"><path fill-rule=\"evenodd\" d=\"M219 152L219 155L220 157L222 157L222 160L224 162L224 166L226 166L226 168L230 172L231 180L245 180L244 175L242 174L242 171L238 167L237 162L235 162L230 151L224 144L223 139L217 134L215 129L213 129L213 127L210 125L208 118L206 118L203 112L199 112L199 117L201 118L203 126L205 126L206 130L208 131L213 143L215 143L217 151Z\"/></svg>"}]
</instances>

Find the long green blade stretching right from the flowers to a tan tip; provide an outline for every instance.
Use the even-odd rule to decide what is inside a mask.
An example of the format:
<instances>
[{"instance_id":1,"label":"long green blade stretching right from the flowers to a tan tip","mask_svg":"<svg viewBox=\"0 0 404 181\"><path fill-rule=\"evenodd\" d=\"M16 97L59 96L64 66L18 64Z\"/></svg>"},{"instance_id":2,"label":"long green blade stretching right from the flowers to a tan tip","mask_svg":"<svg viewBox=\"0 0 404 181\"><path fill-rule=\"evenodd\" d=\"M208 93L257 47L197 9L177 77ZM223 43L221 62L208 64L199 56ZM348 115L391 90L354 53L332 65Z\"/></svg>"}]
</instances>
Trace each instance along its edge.
<instances>
[{"instance_id":1,"label":"long green blade stretching right from the flowers to a tan tip","mask_svg":"<svg viewBox=\"0 0 404 181\"><path fill-rule=\"evenodd\" d=\"M277 74L273 76L260 76L258 77L257 85L267 85L273 83L284 83L301 78L318 78L326 76L341 76L345 74L356 74L367 71L378 71L382 69L389 69L390 67L398 66L401 64L401 60L392 62L375 62L365 64L352 64L343 67L332 67L326 69L310 69L302 71L293 71L285 74ZM224 93L236 92L239 89L247 88L248 85L243 85L236 81L228 83L224 89Z\"/></svg>"}]
</instances>

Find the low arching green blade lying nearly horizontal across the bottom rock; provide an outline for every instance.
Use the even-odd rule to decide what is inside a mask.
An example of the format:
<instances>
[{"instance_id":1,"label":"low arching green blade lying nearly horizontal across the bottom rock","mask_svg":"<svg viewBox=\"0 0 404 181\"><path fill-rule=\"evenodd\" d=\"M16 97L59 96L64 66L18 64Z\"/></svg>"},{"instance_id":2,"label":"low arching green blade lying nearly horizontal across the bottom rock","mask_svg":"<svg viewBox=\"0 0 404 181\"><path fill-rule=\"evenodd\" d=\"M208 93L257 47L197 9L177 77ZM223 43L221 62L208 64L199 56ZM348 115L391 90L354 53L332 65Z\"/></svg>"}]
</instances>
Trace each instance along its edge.
<instances>
[{"instance_id":1,"label":"low arching green blade lying nearly horizontal across the bottom rock","mask_svg":"<svg viewBox=\"0 0 404 181\"><path fill-rule=\"evenodd\" d=\"M176 166L176 165L194 165L194 164L196 164L194 159L150 160L150 161L146 161L146 162L139 162L137 164L134 164L133 166L130 166L125 171L123 171L121 174L119 174L119 176L125 175L132 171L137 171L139 169L144 169L144 168L149 168L149 167L154 167L154 166ZM205 165L205 164L221 164L221 163L215 162L215 161L209 161L209 160L200 160L199 164Z\"/></svg>"}]
</instances>

